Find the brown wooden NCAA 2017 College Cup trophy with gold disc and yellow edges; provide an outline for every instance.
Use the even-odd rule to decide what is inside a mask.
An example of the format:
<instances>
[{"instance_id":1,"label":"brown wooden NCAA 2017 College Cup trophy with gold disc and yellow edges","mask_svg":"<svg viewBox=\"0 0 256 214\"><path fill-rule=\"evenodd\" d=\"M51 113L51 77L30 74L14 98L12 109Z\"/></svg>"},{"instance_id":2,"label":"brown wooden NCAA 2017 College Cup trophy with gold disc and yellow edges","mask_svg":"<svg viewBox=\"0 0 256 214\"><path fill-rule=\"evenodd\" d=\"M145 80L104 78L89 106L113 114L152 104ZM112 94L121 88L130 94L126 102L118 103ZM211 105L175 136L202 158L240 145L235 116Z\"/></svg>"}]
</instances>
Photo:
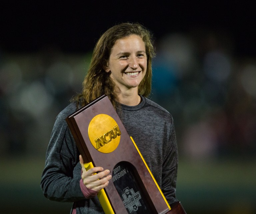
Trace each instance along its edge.
<instances>
[{"instance_id":1,"label":"brown wooden NCAA 2017 College Cup trophy with gold disc and yellow edges","mask_svg":"<svg viewBox=\"0 0 256 214\"><path fill-rule=\"evenodd\" d=\"M66 118L85 166L109 169L99 196L105 213L167 213L170 206L109 98L95 99Z\"/></svg>"}]
</instances>

